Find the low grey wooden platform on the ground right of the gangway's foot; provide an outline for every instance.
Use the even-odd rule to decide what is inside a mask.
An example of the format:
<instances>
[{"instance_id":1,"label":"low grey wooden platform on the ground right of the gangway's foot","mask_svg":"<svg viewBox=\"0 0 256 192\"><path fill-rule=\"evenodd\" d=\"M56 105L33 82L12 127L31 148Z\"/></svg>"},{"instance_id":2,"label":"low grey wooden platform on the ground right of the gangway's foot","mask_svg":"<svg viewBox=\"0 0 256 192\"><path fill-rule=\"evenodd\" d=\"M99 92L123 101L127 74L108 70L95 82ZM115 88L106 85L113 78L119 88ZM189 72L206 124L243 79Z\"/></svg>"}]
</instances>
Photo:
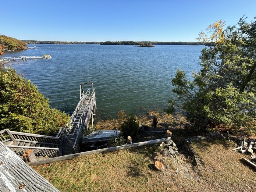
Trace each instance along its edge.
<instances>
[{"instance_id":1,"label":"low grey wooden platform on the ground right of the gangway's foot","mask_svg":"<svg viewBox=\"0 0 256 192\"><path fill-rule=\"evenodd\" d=\"M114 138L120 135L119 130L97 130L87 136L82 137L82 143L95 143L110 140L110 137Z\"/></svg>"}]
</instances>

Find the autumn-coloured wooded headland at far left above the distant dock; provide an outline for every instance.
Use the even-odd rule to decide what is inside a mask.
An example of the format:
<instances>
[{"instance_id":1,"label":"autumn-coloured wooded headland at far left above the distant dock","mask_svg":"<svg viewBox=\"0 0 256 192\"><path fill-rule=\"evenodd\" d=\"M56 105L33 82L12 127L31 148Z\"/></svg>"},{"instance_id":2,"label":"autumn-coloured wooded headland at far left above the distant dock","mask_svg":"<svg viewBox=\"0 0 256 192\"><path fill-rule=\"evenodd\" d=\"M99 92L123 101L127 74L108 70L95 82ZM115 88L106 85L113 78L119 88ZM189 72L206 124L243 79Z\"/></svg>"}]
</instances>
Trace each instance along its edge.
<instances>
[{"instance_id":1,"label":"autumn-coloured wooded headland at far left above the distant dock","mask_svg":"<svg viewBox=\"0 0 256 192\"><path fill-rule=\"evenodd\" d=\"M6 35L0 35L0 55L4 54L4 51L18 51L24 50L27 43L18 39L7 37Z\"/></svg>"}]
</instances>

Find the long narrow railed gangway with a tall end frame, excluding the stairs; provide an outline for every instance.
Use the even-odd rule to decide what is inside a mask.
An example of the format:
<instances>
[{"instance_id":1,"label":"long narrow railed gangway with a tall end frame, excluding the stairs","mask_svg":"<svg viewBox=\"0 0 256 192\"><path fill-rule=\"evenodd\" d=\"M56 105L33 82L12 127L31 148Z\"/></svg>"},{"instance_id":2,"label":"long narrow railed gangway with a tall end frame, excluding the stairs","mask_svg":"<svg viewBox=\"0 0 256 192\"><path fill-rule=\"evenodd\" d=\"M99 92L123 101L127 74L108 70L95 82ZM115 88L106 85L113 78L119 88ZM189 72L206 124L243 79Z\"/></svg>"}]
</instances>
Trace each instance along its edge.
<instances>
[{"instance_id":1,"label":"long narrow railed gangway with a tall end frame, excluding the stairs","mask_svg":"<svg viewBox=\"0 0 256 192\"><path fill-rule=\"evenodd\" d=\"M83 85L91 85L84 91ZM93 83L80 84L80 101L69 119L69 123L61 128L56 137L62 134L62 155L78 153L80 150L81 137L84 131L88 131L90 122L93 126L96 113L95 89Z\"/></svg>"}]
</instances>

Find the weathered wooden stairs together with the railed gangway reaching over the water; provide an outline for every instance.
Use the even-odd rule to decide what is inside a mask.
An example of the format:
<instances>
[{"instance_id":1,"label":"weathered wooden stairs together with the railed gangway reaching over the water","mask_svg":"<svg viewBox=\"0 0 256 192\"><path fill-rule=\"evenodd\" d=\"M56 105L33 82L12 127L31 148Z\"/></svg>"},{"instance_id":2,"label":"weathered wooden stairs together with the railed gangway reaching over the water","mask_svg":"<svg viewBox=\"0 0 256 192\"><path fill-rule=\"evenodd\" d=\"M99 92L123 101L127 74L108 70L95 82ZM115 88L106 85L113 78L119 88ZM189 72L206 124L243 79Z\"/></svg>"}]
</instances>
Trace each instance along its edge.
<instances>
[{"instance_id":1,"label":"weathered wooden stairs together with the railed gangway reaching over the water","mask_svg":"<svg viewBox=\"0 0 256 192\"><path fill-rule=\"evenodd\" d=\"M84 92L83 85L91 85ZM55 157L78 153L81 137L88 131L89 124L94 123L96 112L95 89L93 83L80 84L80 101L65 127L59 129L55 137L22 133L5 129L0 131L0 141L22 157L32 149L37 157Z\"/></svg>"}]
</instances>

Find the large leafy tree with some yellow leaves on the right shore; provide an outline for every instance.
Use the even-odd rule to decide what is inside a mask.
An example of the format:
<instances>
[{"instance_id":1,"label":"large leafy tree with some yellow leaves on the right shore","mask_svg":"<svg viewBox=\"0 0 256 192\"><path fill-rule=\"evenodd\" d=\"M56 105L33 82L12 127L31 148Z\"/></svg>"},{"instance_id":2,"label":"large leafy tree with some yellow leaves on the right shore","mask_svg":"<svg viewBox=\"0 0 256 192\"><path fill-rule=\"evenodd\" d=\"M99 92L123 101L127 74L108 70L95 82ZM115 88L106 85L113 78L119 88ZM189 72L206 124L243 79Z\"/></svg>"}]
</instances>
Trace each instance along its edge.
<instances>
[{"instance_id":1,"label":"large leafy tree with some yellow leaves on the right shore","mask_svg":"<svg viewBox=\"0 0 256 192\"><path fill-rule=\"evenodd\" d=\"M193 81L177 70L172 91L187 119L197 126L208 121L255 131L256 18L251 23L240 19L238 26L225 30L222 27L221 21L210 25L209 38L201 32L199 39L214 46L202 50L201 70L193 72ZM176 103L170 100L169 104L173 109Z\"/></svg>"}]
</instances>

